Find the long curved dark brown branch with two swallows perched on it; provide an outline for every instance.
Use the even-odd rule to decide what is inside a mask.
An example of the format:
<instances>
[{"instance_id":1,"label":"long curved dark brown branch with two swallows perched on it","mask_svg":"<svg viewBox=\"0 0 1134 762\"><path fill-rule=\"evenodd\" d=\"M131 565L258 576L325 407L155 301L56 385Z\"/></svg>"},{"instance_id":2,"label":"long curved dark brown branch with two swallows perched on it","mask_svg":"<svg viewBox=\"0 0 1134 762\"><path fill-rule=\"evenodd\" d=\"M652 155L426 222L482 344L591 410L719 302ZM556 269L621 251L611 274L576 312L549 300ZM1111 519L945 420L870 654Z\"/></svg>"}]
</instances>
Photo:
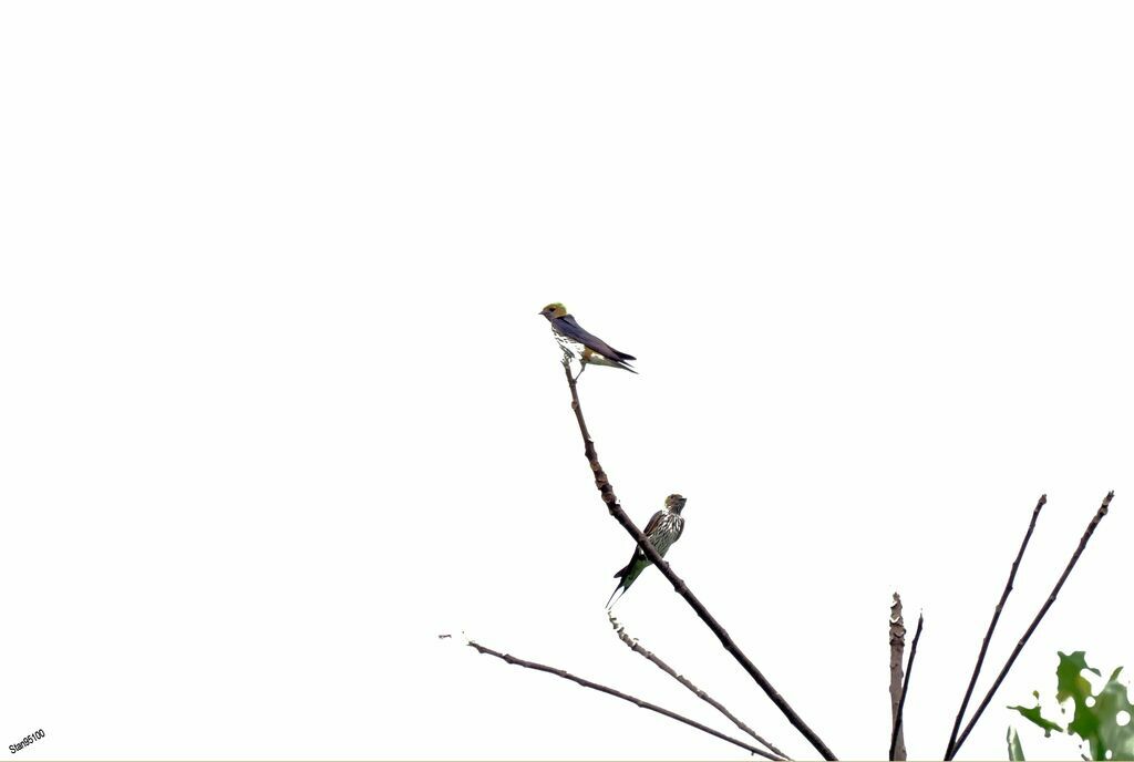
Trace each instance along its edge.
<instances>
[{"instance_id":1,"label":"long curved dark brown branch with two swallows perched on it","mask_svg":"<svg viewBox=\"0 0 1134 762\"><path fill-rule=\"evenodd\" d=\"M725 628L718 624L711 613L709 613L709 610L701 603L701 601L697 600L685 583L682 582L676 574L674 574L674 570L669 568L669 564L662 559L654 547L650 543L649 537L642 533L642 530L640 530L634 522L631 520L631 517L627 516L626 511L618 505L618 498L615 497L615 490L610 485L610 480L607 479L607 474L602 469L602 465L599 463L599 455L594 450L594 441L591 439L591 434L586 430L586 421L583 420L583 407L578 401L578 389L576 388L575 379L570 374L570 365L566 358L564 359L564 373L567 375L567 386L570 387L572 409L575 410L575 417L578 421L578 430L583 435L583 451L586 455L587 463L591 465L591 471L594 472L594 485L602 494L602 501L607 503L607 510L610 511L610 515L623 525L623 528L626 530L632 537L634 537L634 541L637 542L638 548L642 549L642 552L645 553L646 558L653 561L653 565L658 567L658 570L660 570L666 578L669 579L669 582L674 585L674 590L677 591L677 593L685 599L686 603L689 604L696 615L701 617L701 620L704 621L709 629L711 629L720 640L725 650L733 654L733 658L739 662L741 667L744 668L744 671L752 676L752 679L754 679L756 684L763 688L764 693L768 694L768 697L772 700L772 703L779 708L788 721L803 734L803 736L811 743L812 746L815 747L815 751L818 751L824 760L836 760L837 757L831 750L827 747L827 744L822 742L814 730L807 727L807 723L804 722L798 714L796 714L795 710L792 709L792 705L787 703L787 700L785 700L784 696L776 691L772 684L768 681L768 678L765 678L763 674L756 669L756 666L753 664L746 655L744 655L744 652L737 647L736 643L733 642L733 638L725 630Z\"/></svg>"}]
</instances>

